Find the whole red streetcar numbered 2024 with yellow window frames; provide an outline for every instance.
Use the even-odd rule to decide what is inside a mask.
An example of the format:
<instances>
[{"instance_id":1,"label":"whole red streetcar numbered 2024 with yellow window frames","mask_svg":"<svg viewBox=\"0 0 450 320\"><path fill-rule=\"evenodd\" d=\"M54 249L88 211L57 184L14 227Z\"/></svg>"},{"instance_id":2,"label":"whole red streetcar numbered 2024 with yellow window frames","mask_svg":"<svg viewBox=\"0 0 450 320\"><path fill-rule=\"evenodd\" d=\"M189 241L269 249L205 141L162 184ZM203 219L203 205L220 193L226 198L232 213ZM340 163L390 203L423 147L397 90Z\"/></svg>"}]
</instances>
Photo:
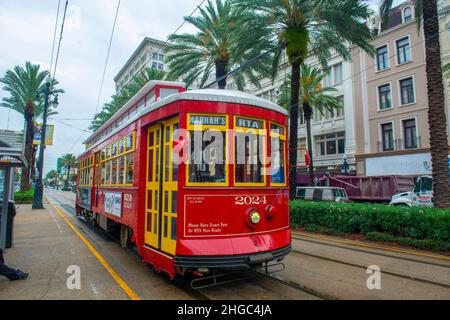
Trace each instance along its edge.
<instances>
[{"instance_id":1,"label":"whole red streetcar numbered 2024 with yellow window frames","mask_svg":"<svg viewBox=\"0 0 450 320\"><path fill-rule=\"evenodd\" d=\"M287 122L250 94L150 81L84 142L76 212L171 278L279 262Z\"/></svg>"}]
</instances>

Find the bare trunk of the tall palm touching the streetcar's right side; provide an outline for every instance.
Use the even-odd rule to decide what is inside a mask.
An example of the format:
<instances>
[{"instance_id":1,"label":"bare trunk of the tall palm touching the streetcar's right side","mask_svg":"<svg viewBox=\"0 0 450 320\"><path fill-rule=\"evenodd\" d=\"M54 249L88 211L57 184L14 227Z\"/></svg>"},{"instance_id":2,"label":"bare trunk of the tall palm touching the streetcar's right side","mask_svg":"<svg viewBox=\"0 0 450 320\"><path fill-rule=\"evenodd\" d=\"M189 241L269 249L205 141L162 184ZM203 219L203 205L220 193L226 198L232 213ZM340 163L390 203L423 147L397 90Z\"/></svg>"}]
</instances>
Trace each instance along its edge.
<instances>
[{"instance_id":1,"label":"bare trunk of the tall palm touching the streetcar's right side","mask_svg":"<svg viewBox=\"0 0 450 320\"><path fill-rule=\"evenodd\" d=\"M292 63L291 106L289 114L289 198L295 199L297 193L297 140L298 140L298 102L300 92L300 63Z\"/></svg>"}]
</instances>

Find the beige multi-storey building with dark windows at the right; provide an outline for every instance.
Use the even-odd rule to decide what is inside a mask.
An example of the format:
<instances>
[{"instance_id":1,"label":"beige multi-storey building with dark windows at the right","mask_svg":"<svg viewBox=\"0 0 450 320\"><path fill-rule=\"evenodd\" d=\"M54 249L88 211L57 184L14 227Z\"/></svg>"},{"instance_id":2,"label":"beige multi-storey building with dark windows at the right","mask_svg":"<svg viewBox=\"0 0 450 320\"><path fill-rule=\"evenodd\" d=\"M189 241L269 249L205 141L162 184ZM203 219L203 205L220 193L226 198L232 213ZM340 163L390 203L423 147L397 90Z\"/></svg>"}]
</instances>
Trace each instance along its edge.
<instances>
[{"instance_id":1,"label":"beige multi-storey building with dark windows at the right","mask_svg":"<svg viewBox=\"0 0 450 320\"><path fill-rule=\"evenodd\" d=\"M357 174L430 174L425 43L414 3L392 9L388 25L371 23L375 56L353 49Z\"/></svg>"}]
</instances>

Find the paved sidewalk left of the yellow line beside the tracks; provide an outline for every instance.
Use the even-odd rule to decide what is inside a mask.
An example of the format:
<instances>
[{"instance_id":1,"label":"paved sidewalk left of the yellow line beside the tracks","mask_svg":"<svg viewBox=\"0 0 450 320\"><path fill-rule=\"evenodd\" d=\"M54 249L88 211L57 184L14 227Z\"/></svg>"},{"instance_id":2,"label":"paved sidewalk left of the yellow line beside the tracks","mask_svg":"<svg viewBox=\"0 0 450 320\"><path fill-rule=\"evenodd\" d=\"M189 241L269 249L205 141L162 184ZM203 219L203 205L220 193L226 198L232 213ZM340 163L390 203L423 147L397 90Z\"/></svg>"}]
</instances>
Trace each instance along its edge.
<instances>
[{"instance_id":1,"label":"paved sidewalk left of the yellow line beside the tracks","mask_svg":"<svg viewBox=\"0 0 450 320\"><path fill-rule=\"evenodd\" d=\"M21 205L17 211L13 247L4 257L7 265L30 277L0 277L0 299L128 299L52 206L44 206L32 210ZM73 265L82 273L79 290L67 287L67 268Z\"/></svg>"}]
</instances>

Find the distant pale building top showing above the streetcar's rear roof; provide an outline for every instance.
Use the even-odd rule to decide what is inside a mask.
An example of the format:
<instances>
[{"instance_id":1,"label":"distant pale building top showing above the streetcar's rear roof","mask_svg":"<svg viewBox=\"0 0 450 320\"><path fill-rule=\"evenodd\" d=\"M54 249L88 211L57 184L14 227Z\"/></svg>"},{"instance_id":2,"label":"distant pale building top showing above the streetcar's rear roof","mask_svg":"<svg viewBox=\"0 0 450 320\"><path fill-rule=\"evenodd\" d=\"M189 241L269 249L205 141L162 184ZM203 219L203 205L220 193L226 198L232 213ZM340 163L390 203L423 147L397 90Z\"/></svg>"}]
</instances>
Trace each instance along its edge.
<instances>
[{"instance_id":1,"label":"distant pale building top showing above the streetcar's rear roof","mask_svg":"<svg viewBox=\"0 0 450 320\"><path fill-rule=\"evenodd\" d=\"M163 48L164 41L144 38L131 57L114 77L116 92L122 88L145 67L167 71Z\"/></svg>"}]
</instances>

